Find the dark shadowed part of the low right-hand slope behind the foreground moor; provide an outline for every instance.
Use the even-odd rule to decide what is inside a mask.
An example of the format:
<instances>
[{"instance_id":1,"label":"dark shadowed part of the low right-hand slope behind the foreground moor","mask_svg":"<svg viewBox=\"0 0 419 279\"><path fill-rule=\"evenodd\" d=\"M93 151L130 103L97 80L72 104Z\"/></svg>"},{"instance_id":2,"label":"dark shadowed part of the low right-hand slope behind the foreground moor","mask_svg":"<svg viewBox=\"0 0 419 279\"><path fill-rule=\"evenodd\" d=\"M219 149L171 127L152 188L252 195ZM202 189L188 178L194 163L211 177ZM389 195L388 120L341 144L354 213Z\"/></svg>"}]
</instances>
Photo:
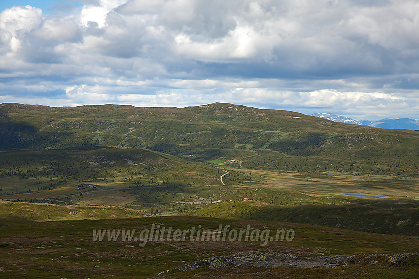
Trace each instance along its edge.
<instances>
[{"instance_id":1,"label":"dark shadowed part of the low right-hand slope behind the foreground moor","mask_svg":"<svg viewBox=\"0 0 419 279\"><path fill-rule=\"evenodd\" d=\"M299 205L259 207L244 218L324 225L355 231L419 236L418 205Z\"/></svg>"}]
</instances>

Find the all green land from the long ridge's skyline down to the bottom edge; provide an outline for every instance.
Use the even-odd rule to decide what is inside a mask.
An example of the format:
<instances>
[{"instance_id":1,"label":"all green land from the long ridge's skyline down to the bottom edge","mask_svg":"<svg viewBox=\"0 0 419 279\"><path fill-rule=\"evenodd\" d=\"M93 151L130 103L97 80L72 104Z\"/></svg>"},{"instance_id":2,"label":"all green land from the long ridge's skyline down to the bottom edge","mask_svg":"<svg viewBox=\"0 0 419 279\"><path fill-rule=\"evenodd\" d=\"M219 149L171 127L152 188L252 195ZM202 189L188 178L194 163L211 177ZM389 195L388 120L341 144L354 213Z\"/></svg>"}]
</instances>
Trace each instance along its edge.
<instances>
[{"instance_id":1,"label":"all green land from the long ridge's skyline down to the bottom edge","mask_svg":"<svg viewBox=\"0 0 419 279\"><path fill-rule=\"evenodd\" d=\"M1 104L0 158L0 278L419 277L418 131L223 103ZM141 245L220 225L266 243ZM271 241L281 229L293 239Z\"/></svg>"}]
</instances>

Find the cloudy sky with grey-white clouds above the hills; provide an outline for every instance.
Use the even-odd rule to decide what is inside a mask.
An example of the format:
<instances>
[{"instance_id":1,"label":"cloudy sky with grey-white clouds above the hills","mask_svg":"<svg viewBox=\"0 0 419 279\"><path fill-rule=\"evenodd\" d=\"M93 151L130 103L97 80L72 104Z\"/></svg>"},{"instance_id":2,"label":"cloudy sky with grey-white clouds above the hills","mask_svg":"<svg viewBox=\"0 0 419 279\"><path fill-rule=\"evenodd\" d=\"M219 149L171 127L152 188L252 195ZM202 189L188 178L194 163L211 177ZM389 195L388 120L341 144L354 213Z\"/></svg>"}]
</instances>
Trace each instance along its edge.
<instances>
[{"instance_id":1,"label":"cloudy sky with grey-white clouds above the hills","mask_svg":"<svg viewBox=\"0 0 419 279\"><path fill-rule=\"evenodd\" d=\"M0 103L419 118L417 0L2 0Z\"/></svg>"}]
</instances>

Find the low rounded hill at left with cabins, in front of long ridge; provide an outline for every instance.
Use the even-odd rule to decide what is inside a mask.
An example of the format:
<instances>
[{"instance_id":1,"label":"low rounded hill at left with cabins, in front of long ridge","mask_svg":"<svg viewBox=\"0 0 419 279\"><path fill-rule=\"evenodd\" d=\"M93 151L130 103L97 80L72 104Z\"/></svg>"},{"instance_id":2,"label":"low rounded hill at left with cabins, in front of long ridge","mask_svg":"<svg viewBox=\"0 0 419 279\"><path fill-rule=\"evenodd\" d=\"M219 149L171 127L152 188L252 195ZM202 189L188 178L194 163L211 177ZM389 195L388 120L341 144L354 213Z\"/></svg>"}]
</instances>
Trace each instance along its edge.
<instances>
[{"instance_id":1,"label":"low rounded hill at left with cabins, in front of long ridge","mask_svg":"<svg viewBox=\"0 0 419 279\"><path fill-rule=\"evenodd\" d=\"M3 150L0 157L0 199L119 204L147 212L156 209L155 204L169 207L181 201L192 207L197 191L210 199L206 185L221 185L219 176L224 173L208 164L140 148ZM79 185L85 189L75 189ZM174 208L170 210L178 210Z\"/></svg>"}]
</instances>

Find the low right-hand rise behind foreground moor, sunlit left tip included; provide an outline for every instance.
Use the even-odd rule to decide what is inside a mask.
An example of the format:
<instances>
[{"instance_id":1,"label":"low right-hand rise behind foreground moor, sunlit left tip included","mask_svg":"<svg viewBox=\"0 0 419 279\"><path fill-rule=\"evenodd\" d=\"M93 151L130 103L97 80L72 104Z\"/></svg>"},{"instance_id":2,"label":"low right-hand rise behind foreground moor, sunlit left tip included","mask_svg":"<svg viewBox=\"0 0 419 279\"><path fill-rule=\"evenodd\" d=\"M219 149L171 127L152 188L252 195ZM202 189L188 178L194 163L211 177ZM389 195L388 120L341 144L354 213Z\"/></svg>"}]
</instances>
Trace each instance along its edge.
<instances>
[{"instance_id":1,"label":"low right-hand rise behind foreground moor, sunlit left tip included","mask_svg":"<svg viewBox=\"0 0 419 279\"><path fill-rule=\"evenodd\" d=\"M275 220L341 227L356 231L419 236L418 203L364 201L353 205L276 206L262 202L223 202L191 216Z\"/></svg>"}]
</instances>

